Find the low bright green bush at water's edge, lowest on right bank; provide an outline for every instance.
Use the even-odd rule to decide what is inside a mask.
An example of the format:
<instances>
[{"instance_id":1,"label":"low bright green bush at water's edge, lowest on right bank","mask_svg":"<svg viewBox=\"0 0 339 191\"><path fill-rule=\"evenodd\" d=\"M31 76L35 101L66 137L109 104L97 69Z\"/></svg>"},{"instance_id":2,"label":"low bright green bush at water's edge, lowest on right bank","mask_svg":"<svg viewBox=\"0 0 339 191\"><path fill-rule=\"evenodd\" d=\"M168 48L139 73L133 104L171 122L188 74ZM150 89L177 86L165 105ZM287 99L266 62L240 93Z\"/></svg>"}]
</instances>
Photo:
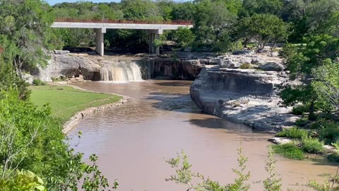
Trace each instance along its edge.
<instances>
[{"instance_id":1,"label":"low bright green bush at water's edge, lowest on right bank","mask_svg":"<svg viewBox=\"0 0 339 191\"><path fill-rule=\"evenodd\" d=\"M302 149L295 146L295 143L279 144L272 146L275 154L280 154L286 158L292 158L297 160L304 159L304 152Z\"/></svg>"}]
</instances>

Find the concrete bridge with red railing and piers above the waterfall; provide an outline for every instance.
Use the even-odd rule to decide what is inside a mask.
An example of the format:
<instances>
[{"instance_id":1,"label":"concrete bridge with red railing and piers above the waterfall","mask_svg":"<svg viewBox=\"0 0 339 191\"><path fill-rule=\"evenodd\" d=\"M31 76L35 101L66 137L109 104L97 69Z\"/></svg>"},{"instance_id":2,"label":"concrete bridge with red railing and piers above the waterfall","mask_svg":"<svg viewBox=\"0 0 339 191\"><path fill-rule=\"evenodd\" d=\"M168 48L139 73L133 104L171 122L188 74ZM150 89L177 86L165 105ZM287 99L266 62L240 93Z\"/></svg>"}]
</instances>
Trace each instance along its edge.
<instances>
[{"instance_id":1,"label":"concrete bridge with red railing and piers above the waterfall","mask_svg":"<svg viewBox=\"0 0 339 191\"><path fill-rule=\"evenodd\" d=\"M192 28L192 21L132 21L132 20L81 20L57 18L52 28L93 28L95 30L95 51L104 55L104 34L107 29L142 29L149 33L149 52L159 54L159 47L154 46L154 40L162 35L164 30L177 30L180 27Z\"/></svg>"}]
</instances>

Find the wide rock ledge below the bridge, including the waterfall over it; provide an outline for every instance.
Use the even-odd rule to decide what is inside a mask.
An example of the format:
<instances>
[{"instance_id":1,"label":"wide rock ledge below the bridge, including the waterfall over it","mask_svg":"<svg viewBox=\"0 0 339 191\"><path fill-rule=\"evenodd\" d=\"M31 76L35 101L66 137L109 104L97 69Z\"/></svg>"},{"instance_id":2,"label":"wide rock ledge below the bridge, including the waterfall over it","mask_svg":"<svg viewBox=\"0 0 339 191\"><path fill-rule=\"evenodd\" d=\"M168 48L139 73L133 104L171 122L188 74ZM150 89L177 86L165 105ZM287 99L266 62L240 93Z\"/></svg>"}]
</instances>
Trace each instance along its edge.
<instances>
[{"instance_id":1,"label":"wide rock ledge below the bridge, including the waterfall over it","mask_svg":"<svg viewBox=\"0 0 339 191\"><path fill-rule=\"evenodd\" d=\"M32 72L35 78L42 81L52 81L60 76L83 76L93 81L194 80L203 68L197 60L162 57L98 57L57 50L51 57L45 68Z\"/></svg>"}]
</instances>

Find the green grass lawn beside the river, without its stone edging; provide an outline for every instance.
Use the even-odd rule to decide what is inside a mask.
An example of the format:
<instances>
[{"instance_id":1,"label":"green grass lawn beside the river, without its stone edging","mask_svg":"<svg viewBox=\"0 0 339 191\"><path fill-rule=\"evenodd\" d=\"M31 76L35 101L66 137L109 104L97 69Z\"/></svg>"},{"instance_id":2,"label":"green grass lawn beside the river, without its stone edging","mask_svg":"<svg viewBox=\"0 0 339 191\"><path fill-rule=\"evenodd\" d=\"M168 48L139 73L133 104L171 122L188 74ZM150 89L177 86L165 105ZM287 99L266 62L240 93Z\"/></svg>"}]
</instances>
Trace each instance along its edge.
<instances>
[{"instance_id":1,"label":"green grass lawn beside the river, without its stone edging","mask_svg":"<svg viewBox=\"0 0 339 191\"><path fill-rule=\"evenodd\" d=\"M59 118L61 122L66 122L85 108L114 103L121 99L121 96L81 91L70 86L30 86L30 90L32 102L38 107L49 103L52 116Z\"/></svg>"}]
</instances>

